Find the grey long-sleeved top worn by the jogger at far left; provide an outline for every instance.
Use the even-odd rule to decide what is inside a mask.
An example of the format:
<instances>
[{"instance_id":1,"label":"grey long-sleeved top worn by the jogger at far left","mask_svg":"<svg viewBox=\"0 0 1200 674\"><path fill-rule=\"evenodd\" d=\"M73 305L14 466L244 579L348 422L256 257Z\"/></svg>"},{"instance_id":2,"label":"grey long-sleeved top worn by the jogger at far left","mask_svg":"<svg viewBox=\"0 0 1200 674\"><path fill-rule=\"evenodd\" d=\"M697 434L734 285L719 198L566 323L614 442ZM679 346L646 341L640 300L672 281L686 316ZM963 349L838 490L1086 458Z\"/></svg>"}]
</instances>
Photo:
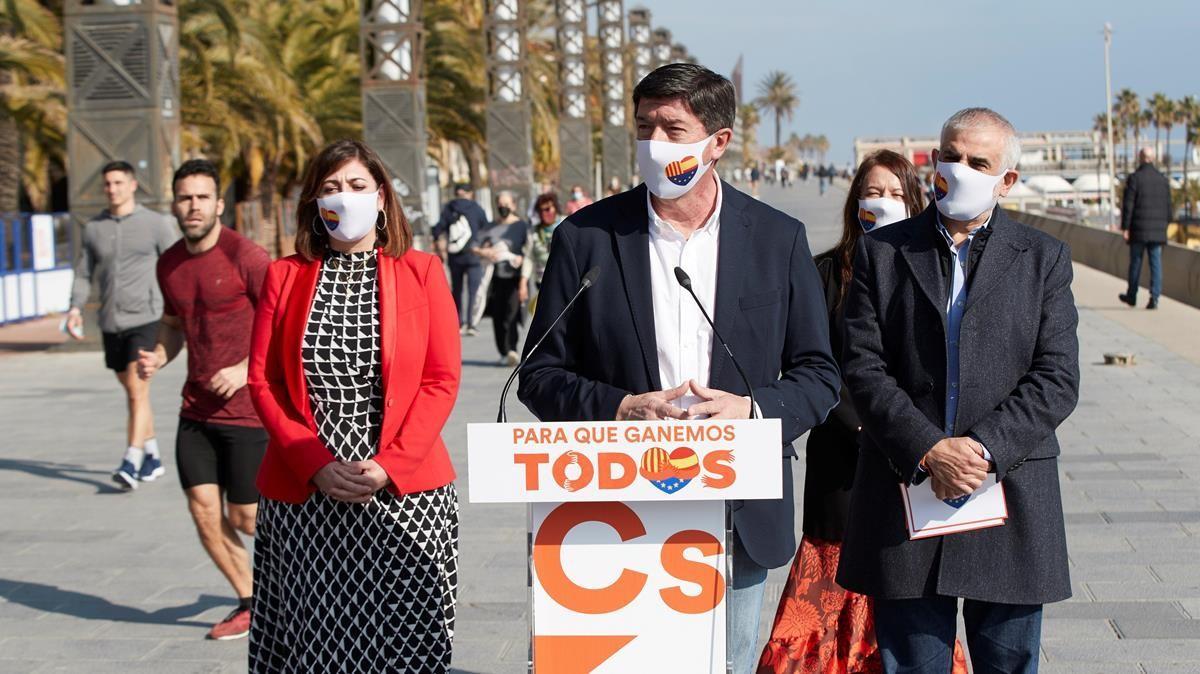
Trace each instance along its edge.
<instances>
[{"instance_id":1,"label":"grey long-sleeved top worn by the jogger at far left","mask_svg":"<svg viewBox=\"0 0 1200 674\"><path fill-rule=\"evenodd\" d=\"M84 228L71 306L83 308L95 281L101 331L120 332L158 320L162 294L155 265L178 239L174 218L140 204L125 217L102 211Z\"/></svg>"}]
</instances>

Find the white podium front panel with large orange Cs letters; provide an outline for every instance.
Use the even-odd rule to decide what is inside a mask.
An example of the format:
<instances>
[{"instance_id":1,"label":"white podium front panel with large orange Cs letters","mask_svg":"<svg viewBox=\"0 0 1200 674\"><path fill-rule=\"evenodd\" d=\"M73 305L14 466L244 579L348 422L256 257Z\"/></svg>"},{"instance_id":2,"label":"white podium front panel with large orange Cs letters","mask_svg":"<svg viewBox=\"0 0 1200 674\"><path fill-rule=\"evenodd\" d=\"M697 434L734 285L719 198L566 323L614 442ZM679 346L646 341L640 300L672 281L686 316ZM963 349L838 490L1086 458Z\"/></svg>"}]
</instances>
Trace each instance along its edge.
<instances>
[{"instance_id":1,"label":"white podium front panel with large orange Cs letters","mask_svg":"<svg viewBox=\"0 0 1200 674\"><path fill-rule=\"evenodd\" d=\"M533 505L536 674L725 672L725 504Z\"/></svg>"}]
</instances>

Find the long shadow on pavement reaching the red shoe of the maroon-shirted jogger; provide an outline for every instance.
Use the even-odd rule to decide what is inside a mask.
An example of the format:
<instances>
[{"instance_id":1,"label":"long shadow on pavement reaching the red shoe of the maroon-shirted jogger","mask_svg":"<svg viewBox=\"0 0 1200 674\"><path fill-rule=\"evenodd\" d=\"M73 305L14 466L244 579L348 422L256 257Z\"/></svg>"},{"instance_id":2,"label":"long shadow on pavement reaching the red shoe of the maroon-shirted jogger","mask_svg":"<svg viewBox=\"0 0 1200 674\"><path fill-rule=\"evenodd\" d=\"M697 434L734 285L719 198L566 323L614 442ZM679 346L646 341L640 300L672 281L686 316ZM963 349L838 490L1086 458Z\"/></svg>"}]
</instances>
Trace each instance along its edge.
<instances>
[{"instance_id":1,"label":"long shadow on pavement reaching the red shoe of the maroon-shirted jogger","mask_svg":"<svg viewBox=\"0 0 1200 674\"><path fill-rule=\"evenodd\" d=\"M212 625L211 622L184 619L204 613L210 608L230 603L229 597L200 595L192 603L168 606L151 612L115 604L95 595L64 590L58 585L44 585L42 583L11 580L7 578L0 578L0 597L8 603L25 606L35 610L58 613L84 620L113 620L118 622L194 627L211 627Z\"/></svg>"}]
</instances>

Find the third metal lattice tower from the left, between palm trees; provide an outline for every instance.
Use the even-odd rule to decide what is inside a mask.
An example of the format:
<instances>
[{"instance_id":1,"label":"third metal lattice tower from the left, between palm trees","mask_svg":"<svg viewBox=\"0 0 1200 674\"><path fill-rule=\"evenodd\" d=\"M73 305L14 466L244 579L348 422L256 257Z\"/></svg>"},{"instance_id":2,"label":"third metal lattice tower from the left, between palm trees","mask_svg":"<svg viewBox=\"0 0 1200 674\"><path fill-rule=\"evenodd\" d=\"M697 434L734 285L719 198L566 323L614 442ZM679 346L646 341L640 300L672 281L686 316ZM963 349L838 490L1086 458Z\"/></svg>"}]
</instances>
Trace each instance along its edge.
<instances>
[{"instance_id":1,"label":"third metal lattice tower from the left, between palm trees","mask_svg":"<svg viewBox=\"0 0 1200 674\"><path fill-rule=\"evenodd\" d=\"M511 191L518 212L533 195L533 139L522 0L487 0L487 175Z\"/></svg>"}]
</instances>

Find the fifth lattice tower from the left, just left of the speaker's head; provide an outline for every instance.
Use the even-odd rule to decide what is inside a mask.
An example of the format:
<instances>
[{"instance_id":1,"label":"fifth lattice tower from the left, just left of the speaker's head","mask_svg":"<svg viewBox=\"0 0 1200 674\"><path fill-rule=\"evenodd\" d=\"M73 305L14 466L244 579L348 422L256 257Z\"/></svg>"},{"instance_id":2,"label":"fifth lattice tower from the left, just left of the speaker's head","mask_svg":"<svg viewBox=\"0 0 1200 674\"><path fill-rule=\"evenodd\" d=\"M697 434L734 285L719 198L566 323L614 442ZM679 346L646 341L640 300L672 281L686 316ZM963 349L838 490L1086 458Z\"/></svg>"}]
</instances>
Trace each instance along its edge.
<instances>
[{"instance_id":1,"label":"fifth lattice tower from the left, just left of the speaker's head","mask_svg":"<svg viewBox=\"0 0 1200 674\"><path fill-rule=\"evenodd\" d=\"M601 166L605 187L613 179L624 188L631 175L629 115L625 103L625 30L622 0L600 0L600 67L604 72L604 139Z\"/></svg>"}]
</instances>

